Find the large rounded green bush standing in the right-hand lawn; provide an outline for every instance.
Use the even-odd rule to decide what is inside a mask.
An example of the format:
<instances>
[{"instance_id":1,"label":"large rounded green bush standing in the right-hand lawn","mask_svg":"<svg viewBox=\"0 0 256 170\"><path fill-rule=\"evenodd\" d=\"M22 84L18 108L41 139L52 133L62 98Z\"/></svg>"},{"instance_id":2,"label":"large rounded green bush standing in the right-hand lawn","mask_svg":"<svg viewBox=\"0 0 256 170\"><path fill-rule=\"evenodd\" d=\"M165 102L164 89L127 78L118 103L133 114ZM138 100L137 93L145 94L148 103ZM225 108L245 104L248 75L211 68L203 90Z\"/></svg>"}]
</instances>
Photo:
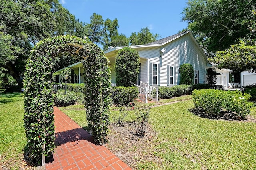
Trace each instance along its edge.
<instances>
[{"instance_id":1,"label":"large rounded green bush standing in the right-hand lawn","mask_svg":"<svg viewBox=\"0 0 256 170\"><path fill-rule=\"evenodd\" d=\"M194 90L192 93L195 108L203 109L207 115L220 115L221 111L235 112L245 118L250 114L252 104L248 102L250 95L241 91L223 91L215 89Z\"/></svg>"}]
</instances>

